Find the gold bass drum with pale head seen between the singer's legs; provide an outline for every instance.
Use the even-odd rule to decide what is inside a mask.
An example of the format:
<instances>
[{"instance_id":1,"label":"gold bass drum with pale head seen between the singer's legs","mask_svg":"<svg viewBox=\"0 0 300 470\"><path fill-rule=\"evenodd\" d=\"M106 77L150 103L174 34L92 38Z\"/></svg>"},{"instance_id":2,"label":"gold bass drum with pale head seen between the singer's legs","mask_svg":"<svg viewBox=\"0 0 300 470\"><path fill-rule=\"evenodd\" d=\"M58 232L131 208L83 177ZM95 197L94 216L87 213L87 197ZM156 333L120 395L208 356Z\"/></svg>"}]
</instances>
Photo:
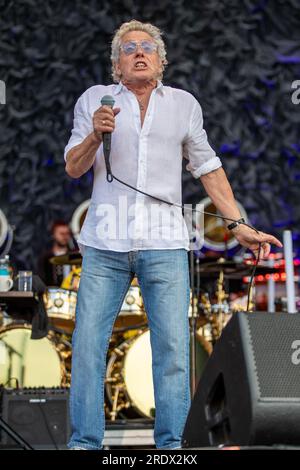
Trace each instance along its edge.
<instances>
[{"instance_id":1,"label":"gold bass drum with pale head seen between the singer's legs","mask_svg":"<svg viewBox=\"0 0 300 470\"><path fill-rule=\"evenodd\" d=\"M210 346L197 336L197 375L202 373ZM150 331L139 331L110 353L105 382L107 418L154 418Z\"/></svg>"}]
</instances>

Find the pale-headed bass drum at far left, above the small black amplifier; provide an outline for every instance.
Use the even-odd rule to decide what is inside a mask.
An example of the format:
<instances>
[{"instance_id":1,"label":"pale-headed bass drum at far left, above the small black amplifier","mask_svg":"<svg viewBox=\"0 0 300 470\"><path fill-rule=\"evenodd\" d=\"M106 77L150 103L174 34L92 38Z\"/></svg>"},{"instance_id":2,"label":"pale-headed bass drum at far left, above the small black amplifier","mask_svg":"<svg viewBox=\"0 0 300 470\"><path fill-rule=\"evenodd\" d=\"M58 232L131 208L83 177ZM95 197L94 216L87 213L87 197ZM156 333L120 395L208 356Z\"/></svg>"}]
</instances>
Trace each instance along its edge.
<instances>
[{"instance_id":1,"label":"pale-headed bass drum at far left, above the small black amplifier","mask_svg":"<svg viewBox=\"0 0 300 470\"><path fill-rule=\"evenodd\" d=\"M65 367L54 337L31 339L31 328L9 325L0 330L0 383L16 387L65 385Z\"/></svg>"}]
</instances>

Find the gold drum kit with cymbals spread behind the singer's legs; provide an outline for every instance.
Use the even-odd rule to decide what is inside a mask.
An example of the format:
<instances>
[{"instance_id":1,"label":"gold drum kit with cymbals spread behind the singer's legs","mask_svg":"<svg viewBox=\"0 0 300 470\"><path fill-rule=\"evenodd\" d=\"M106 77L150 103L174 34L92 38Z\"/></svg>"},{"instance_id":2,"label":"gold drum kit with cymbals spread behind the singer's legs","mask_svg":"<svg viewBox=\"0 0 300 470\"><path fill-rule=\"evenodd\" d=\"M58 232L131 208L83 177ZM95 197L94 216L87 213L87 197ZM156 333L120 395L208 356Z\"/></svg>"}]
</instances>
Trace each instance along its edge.
<instances>
[{"instance_id":1,"label":"gold drum kit with cymbals spread behind the singer's legs","mask_svg":"<svg viewBox=\"0 0 300 470\"><path fill-rule=\"evenodd\" d=\"M77 291L81 273L81 255L69 253L51 259L69 264L71 272L61 287L49 287L44 294L50 329L41 340L31 340L31 327L2 315L0 329L0 383L17 387L68 387L71 380L71 336L75 327ZM231 307L225 281L249 275L241 262L223 258L196 266L196 275L216 278L216 290L191 292L189 317L195 319L196 373L199 378L205 362L223 328L238 310ZM262 269L262 268L261 268ZM265 272L270 272L265 268ZM1 312L1 310L0 310ZM125 296L114 324L107 356L105 377L105 413L117 419L155 416L152 383L150 332L138 280L135 278Z\"/></svg>"}]
</instances>

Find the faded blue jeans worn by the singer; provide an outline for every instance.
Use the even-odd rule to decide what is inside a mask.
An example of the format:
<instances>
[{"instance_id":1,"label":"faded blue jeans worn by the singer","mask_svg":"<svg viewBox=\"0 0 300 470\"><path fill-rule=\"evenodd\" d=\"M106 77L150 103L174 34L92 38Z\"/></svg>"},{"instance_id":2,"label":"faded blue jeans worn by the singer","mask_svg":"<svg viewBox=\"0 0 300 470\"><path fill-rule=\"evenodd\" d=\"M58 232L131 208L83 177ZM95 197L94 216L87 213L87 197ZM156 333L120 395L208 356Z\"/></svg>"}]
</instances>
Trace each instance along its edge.
<instances>
[{"instance_id":1,"label":"faded blue jeans worn by the singer","mask_svg":"<svg viewBox=\"0 0 300 470\"><path fill-rule=\"evenodd\" d=\"M187 252L175 249L124 253L87 246L72 340L70 448L102 448L108 344L134 273L150 327L155 444L160 449L181 446L190 407Z\"/></svg>"}]
</instances>

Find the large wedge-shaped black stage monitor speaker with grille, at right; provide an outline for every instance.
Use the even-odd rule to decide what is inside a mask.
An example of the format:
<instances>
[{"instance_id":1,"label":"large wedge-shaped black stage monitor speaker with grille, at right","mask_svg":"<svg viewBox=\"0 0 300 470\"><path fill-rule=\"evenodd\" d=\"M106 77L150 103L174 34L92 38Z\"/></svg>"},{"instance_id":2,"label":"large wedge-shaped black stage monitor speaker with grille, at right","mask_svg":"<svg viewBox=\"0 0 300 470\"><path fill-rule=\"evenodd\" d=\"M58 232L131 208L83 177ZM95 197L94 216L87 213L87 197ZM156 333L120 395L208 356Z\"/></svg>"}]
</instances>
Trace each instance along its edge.
<instances>
[{"instance_id":1,"label":"large wedge-shaped black stage monitor speaker with grille, at right","mask_svg":"<svg viewBox=\"0 0 300 470\"><path fill-rule=\"evenodd\" d=\"M300 446L300 314L238 313L215 345L183 447Z\"/></svg>"}]
</instances>

